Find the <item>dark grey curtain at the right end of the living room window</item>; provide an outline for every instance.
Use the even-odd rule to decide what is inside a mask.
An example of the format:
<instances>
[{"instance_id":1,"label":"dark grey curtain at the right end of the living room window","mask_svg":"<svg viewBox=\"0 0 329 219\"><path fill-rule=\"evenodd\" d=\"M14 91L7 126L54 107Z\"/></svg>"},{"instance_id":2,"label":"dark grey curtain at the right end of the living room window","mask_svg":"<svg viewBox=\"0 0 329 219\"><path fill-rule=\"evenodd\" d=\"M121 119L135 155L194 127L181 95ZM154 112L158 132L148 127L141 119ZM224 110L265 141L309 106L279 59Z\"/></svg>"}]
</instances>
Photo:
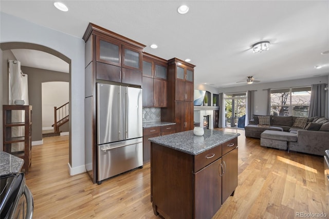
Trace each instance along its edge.
<instances>
[{"instance_id":1,"label":"dark grey curtain at the right end of the living room window","mask_svg":"<svg viewBox=\"0 0 329 219\"><path fill-rule=\"evenodd\" d=\"M326 84L312 84L308 117L325 116L325 88Z\"/></svg>"}]
</instances>

